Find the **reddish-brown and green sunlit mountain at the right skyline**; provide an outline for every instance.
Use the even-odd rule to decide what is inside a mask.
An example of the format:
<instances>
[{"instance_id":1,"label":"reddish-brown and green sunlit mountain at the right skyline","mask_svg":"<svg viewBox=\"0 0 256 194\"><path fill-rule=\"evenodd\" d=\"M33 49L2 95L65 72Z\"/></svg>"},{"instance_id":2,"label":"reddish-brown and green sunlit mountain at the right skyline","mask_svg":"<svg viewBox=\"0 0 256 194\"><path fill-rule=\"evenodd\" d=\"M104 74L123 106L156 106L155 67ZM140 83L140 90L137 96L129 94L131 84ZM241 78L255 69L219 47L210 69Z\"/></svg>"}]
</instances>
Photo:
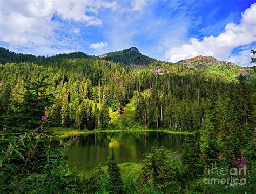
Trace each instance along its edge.
<instances>
[{"instance_id":1,"label":"reddish-brown and green sunlit mountain at the right skyline","mask_svg":"<svg viewBox=\"0 0 256 194\"><path fill-rule=\"evenodd\" d=\"M185 59L177 62L177 64L185 67L201 69L210 73L227 75L229 77L243 76L255 77L253 68L241 67L228 61L218 61L212 56L196 56L191 59Z\"/></svg>"}]
</instances>

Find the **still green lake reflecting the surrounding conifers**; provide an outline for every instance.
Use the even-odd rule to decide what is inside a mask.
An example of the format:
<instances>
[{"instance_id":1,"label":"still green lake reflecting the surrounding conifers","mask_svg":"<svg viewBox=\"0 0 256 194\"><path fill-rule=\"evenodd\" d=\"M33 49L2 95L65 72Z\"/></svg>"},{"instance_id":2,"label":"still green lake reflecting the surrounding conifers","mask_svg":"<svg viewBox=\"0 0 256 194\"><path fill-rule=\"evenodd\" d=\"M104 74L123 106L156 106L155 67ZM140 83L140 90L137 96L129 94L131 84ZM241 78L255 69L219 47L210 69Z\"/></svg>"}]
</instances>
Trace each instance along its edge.
<instances>
[{"instance_id":1,"label":"still green lake reflecting the surrounding conifers","mask_svg":"<svg viewBox=\"0 0 256 194\"><path fill-rule=\"evenodd\" d=\"M172 152L182 152L183 134L164 132L100 132L80 135L68 149L68 166L76 166L78 171L90 171L100 163L104 166L111 149L118 163L140 163L145 159L153 144L164 146ZM61 145L69 138L60 140Z\"/></svg>"}]
</instances>

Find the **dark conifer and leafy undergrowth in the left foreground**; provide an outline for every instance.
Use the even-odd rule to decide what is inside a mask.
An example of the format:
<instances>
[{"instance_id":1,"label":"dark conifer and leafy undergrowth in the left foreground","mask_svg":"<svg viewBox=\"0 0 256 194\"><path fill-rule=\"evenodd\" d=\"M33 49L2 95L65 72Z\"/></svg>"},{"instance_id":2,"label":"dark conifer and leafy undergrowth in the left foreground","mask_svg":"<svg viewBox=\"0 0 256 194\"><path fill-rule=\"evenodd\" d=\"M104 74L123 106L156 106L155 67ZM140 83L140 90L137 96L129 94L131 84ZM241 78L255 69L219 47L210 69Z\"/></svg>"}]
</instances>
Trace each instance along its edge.
<instances>
[{"instance_id":1,"label":"dark conifer and leafy undergrowth in the left foreground","mask_svg":"<svg viewBox=\"0 0 256 194\"><path fill-rule=\"evenodd\" d=\"M44 77L35 82L24 82L25 90L21 94L23 102L14 104L17 105L18 111L12 116L12 120L19 115L28 119L28 127L23 131L10 129L9 133L0 138L1 193L49 193L54 190L66 192L69 188L66 184L69 181L65 179L65 174L58 174L57 169L63 166L65 150L75 139L70 139L63 147L51 145L48 136L52 134L43 131L47 117L41 121L39 119L41 111L45 111L52 104L53 94L44 93L48 87ZM28 110L33 114L26 113ZM32 128L34 126L37 128ZM70 182L69 184L71 185Z\"/></svg>"}]
</instances>

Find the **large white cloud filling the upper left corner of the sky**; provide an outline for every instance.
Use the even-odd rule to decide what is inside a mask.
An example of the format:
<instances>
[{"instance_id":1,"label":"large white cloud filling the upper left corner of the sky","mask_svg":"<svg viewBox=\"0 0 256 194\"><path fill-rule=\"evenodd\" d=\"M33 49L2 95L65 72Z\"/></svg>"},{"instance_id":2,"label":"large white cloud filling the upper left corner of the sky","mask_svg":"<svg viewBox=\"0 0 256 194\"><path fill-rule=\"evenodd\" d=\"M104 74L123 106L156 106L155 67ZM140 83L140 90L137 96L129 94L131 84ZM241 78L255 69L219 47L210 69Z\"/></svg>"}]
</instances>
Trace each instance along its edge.
<instances>
[{"instance_id":1,"label":"large white cloud filling the upper left corner of the sky","mask_svg":"<svg viewBox=\"0 0 256 194\"><path fill-rule=\"evenodd\" d=\"M70 45L56 33L61 24L53 20L53 17L80 22L87 26L100 26L102 20L97 17L98 12L104 8L116 7L116 2L104 0L2 0L0 41L9 44L9 48L26 47L29 51L35 49L39 54L62 52L60 47L64 46L65 42L68 44L65 46ZM73 33L78 34L79 31L75 28ZM43 53L47 49L48 52Z\"/></svg>"}]
</instances>

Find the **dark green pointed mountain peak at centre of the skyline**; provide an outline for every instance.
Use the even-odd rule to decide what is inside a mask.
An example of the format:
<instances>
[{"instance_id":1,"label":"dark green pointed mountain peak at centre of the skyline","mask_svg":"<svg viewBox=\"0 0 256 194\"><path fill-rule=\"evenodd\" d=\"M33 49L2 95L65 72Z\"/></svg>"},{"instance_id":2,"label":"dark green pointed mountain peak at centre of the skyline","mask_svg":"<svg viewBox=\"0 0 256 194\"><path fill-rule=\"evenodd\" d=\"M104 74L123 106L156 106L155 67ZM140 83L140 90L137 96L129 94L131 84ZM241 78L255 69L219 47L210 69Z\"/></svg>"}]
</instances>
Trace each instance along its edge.
<instances>
[{"instance_id":1,"label":"dark green pointed mountain peak at centre of the skyline","mask_svg":"<svg viewBox=\"0 0 256 194\"><path fill-rule=\"evenodd\" d=\"M136 47L104 53L98 56L98 58L123 64L131 64L133 66L146 66L147 64L155 61L155 59L140 53Z\"/></svg>"}]
</instances>

